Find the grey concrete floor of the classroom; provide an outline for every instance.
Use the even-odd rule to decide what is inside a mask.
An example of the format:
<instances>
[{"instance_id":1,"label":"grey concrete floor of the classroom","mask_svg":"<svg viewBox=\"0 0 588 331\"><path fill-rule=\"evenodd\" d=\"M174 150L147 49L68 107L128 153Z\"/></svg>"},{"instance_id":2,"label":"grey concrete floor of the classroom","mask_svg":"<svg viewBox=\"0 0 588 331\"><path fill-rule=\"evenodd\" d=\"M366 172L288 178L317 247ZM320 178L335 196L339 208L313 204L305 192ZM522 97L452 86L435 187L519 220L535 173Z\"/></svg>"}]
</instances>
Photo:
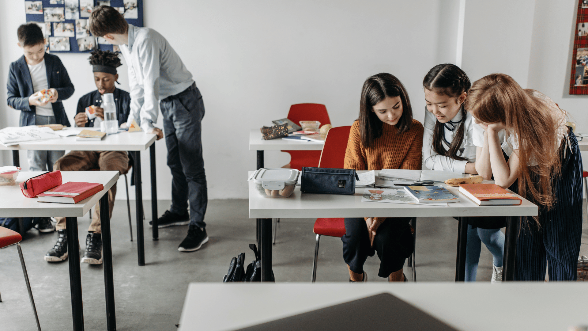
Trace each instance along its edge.
<instances>
[{"instance_id":1,"label":"grey concrete floor of the classroom","mask_svg":"<svg viewBox=\"0 0 588 331\"><path fill-rule=\"evenodd\" d=\"M255 243L255 221L248 219L248 200L209 201L206 222L210 241L202 250L193 253L177 250L187 226L160 229L159 241L151 240L151 228L146 226L144 267L137 265L136 241L129 241L126 204L121 200L116 202L112 217L112 252L116 325L120 331L175 330L188 283L220 282L230 259L240 252L246 252L246 261L254 259L253 252L248 248L249 243ZM169 201L159 201L159 213L169 208L169 204ZM133 204L131 209L134 220ZM151 210L149 201L145 201L145 210ZM149 220L150 217L147 217ZM78 221L83 253L84 230L89 225L89 219L86 216ZM282 219L278 224L273 253L276 281L310 281L315 249L313 223L314 219ZM588 255L586 216L583 229L581 253ZM416 263L419 281L452 282L455 279L456 230L457 221L449 217L418 219ZM136 236L134 224L133 234ZM32 229L26 233L22 249L42 329L69 330L72 322L68 263L47 263L43 260L55 239L55 233L39 234ZM318 282L348 281L341 249L339 238L322 237ZM378 266L377 256L366 262L365 270L370 282L385 281L377 277ZM477 280L489 282L492 255L485 247L482 247L478 270ZM410 279L409 268L405 268L405 273ZM85 329L105 330L102 266L82 264L82 288ZM0 303L0 330L36 330L14 246L0 250L0 293L3 301Z\"/></svg>"}]
</instances>

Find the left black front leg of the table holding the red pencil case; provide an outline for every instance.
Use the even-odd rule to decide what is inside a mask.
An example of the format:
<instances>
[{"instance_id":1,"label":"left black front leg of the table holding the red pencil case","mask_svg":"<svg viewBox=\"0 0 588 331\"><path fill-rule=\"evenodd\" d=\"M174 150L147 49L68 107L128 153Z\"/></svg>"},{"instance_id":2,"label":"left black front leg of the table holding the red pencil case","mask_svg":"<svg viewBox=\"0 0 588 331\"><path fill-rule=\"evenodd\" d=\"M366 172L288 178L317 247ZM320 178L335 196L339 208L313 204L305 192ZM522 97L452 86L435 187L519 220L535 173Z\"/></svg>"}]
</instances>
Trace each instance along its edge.
<instances>
[{"instance_id":1,"label":"left black front leg of the table holding the red pencil case","mask_svg":"<svg viewBox=\"0 0 588 331\"><path fill-rule=\"evenodd\" d=\"M72 297L74 331L83 331L82 276L79 266L78 217L66 217L65 225L65 234L68 241L69 290Z\"/></svg>"}]
</instances>

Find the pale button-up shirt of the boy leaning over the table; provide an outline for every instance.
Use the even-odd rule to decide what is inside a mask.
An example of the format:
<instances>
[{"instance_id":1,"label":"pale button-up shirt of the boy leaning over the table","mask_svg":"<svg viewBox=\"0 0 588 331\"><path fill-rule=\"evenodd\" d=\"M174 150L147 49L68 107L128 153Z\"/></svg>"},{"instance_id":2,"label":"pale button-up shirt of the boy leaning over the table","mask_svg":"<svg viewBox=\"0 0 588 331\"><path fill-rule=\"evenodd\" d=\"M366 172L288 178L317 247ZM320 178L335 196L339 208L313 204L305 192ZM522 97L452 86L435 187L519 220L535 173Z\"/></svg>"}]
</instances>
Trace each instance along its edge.
<instances>
[{"instance_id":1,"label":"pale button-up shirt of the boy leaning over the table","mask_svg":"<svg viewBox=\"0 0 588 331\"><path fill-rule=\"evenodd\" d=\"M151 28L129 24L129 41L120 45L129 67L131 111L128 121L137 120L143 130L157 122L159 100L175 95L194 83L169 42Z\"/></svg>"}]
</instances>

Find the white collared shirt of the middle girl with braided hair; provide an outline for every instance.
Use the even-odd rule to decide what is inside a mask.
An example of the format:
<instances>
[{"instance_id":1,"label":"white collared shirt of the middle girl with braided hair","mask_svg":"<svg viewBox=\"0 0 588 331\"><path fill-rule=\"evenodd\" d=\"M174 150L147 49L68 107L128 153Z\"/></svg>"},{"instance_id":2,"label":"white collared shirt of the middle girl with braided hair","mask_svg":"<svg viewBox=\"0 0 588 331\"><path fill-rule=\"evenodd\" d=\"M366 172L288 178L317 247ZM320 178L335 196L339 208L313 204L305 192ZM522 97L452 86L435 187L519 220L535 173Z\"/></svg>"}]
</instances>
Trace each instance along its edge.
<instances>
[{"instance_id":1,"label":"white collared shirt of the middle girl with braided hair","mask_svg":"<svg viewBox=\"0 0 588 331\"><path fill-rule=\"evenodd\" d=\"M457 122L462 120L462 112L458 112L457 115L451 120ZM457 124L455 130L448 130L446 127L443 128L445 131L445 139L451 143L453 141L453 135L457 133L459 125L465 125L463 127L463 140L462 144L457 153L458 156L464 157L466 160L455 160L449 156L439 155L433 149L433 130L437 118L432 112L428 111L425 107L425 132L423 133L423 160L425 161L425 167L430 170L441 170L441 171L453 171L456 173L465 173L466 164L468 162L476 162L476 145L473 143L473 121L472 114L466 112L466 118L460 124ZM449 150L449 145L442 141L445 150Z\"/></svg>"}]
</instances>

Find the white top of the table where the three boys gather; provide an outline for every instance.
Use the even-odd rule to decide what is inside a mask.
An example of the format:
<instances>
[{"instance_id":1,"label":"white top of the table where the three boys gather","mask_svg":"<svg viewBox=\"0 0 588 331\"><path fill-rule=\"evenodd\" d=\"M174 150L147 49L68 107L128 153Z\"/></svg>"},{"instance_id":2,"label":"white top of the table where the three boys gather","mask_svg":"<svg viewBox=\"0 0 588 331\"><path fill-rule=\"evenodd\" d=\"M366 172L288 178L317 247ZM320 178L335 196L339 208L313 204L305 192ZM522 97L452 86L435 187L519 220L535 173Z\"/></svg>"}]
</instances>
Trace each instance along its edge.
<instances>
[{"instance_id":1,"label":"white top of the table where the three boys gather","mask_svg":"<svg viewBox=\"0 0 588 331\"><path fill-rule=\"evenodd\" d=\"M68 128L67 130L82 131L93 128ZM107 135L101 141L75 141L75 135L60 139L44 140L33 143L22 143L12 146L0 144L0 150L38 150L38 151L144 151L155 142L155 134L143 131L126 132Z\"/></svg>"}]
</instances>

